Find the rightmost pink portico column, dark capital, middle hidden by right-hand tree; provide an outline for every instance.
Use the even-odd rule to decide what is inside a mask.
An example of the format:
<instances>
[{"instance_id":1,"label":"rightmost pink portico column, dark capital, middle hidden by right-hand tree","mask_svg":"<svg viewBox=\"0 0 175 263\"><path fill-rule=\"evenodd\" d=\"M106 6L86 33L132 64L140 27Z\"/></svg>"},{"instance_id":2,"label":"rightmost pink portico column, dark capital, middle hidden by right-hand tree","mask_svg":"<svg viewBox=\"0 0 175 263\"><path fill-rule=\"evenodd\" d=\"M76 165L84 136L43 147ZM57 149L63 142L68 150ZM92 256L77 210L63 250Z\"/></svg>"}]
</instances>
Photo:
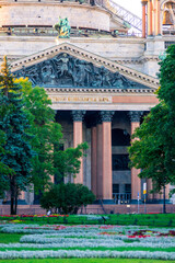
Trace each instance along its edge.
<instances>
[{"instance_id":1,"label":"rightmost pink portico column, dark capital, middle hidden by right-hand tree","mask_svg":"<svg viewBox=\"0 0 175 263\"><path fill-rule=\"evenodd\" d=\"M131 121L131 136L135 133L136 128L140 126L140 117L143 112L131 111L129 112L130 121ZM131 169L131 201L132 203L137 202L138 193L141 197L141 180L138 176L140 173L139 169Z\"/></svg>"}]
</instances>

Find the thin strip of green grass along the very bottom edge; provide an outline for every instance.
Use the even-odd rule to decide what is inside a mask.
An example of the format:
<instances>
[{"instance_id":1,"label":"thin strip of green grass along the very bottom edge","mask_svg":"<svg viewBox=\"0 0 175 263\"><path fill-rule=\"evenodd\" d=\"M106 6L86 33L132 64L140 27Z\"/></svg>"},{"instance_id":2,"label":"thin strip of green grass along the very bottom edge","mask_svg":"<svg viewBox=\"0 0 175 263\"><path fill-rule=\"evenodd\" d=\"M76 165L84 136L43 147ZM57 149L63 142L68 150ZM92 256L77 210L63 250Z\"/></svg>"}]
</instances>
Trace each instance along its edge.
<instances>
[{"instance_id":1,"label":"thin strip of green grass along the very bottom edge","mask_svg":"<svg viewBox=\"0 0 175 263\"><path fill-rule=\"evenodd\" d=\"M44 260L0 260L0 263L175 263L162 260L132 260L132 259L44 259Z\"/></svg>"}]
</instances>

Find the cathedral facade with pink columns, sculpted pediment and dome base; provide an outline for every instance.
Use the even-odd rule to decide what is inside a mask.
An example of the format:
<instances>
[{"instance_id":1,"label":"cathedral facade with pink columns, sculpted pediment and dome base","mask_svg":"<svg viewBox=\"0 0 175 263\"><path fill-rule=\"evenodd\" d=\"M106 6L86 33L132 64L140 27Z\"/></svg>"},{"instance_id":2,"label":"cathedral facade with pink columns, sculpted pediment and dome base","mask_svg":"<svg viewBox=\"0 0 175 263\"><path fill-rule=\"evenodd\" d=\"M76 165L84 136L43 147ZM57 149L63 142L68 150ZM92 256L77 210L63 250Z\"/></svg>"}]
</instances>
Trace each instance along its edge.
<instances>
[{"instance_id":1,"label":"cathedral facade with pink columns, sculpted pediment and dome base","mask_svg":"<svg viewBox=\"0 0 175 263\"><path fill-rule=\"evenodd\" d=\"M129 169L127 147L159 102L158 62L175 44L175 1L141 3L139 19L113 0L0 0L0 59L7 55L16 77L46 89L63 149L89 144L74 182L104 204L141 202L143 183L148 203L162 199L149 193L151 180ZM59 16L69 21L68 37L57 36ZM21 199L35 203L27 192Z\"/></svg>"}]
</instances>

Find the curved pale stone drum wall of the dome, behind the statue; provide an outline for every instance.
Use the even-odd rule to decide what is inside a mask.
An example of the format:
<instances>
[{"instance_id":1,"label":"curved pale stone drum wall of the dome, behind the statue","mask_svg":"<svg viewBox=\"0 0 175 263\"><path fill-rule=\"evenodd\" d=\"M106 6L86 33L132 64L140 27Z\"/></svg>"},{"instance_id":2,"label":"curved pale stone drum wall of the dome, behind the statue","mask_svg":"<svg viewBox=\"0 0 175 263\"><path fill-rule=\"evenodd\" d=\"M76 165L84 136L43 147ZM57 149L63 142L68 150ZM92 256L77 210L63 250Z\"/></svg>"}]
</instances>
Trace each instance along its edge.
<instances>
[{"instance_id":1,"label":"curved pale stone drum wall of the dome, behind the statue","mask_svg":"<svg viewBox=\"0 0 175 263\"><path fill-rule=\"evenodd\" d=\"M70 25L109 31L109 13L88 4L70 2L12 2L2 3L0 25L50 25L68 18Z\"/></svg>"}]
</instances>

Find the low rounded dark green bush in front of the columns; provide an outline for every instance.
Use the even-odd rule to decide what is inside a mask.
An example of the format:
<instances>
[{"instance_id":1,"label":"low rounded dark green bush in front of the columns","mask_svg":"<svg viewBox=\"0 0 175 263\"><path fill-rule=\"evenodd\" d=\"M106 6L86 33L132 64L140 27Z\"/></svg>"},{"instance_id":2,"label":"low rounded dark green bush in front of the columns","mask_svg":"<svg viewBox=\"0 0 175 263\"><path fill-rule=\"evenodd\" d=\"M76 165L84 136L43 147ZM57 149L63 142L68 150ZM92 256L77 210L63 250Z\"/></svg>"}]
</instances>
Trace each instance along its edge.
<instances>
[{"instance_id":1,"label":"low rounded dark green bush in front of the columns","mask_svg":"<svg viewBox=\"0 0 175 263\"><path fill-rule=\"evenodd\" d=\"M40 198L40 206L47 210L66 214L77 214L79 208L92 204L94 194L82 184L58 184L52 185Z\"/></svg>"}]
</instances>

